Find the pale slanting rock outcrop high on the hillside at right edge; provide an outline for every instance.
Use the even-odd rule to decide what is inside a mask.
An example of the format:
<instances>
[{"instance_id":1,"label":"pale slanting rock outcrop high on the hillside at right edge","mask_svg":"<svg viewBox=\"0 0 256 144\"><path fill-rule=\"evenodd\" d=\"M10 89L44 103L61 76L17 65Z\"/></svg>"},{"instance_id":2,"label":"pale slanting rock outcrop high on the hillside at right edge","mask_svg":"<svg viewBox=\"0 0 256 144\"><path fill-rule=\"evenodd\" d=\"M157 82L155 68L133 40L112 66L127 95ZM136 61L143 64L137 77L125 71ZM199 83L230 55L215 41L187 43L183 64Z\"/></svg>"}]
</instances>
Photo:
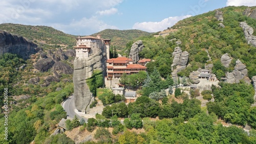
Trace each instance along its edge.
<instances>
[{"instance_id":1,"label":"pale slanting rock outcrop high on the hillside at right edge","mask_svg":"<svg viewBox=\"0 0 256 144\"><path fill-rule=\"evenodd\" d=\"M253 29L247 25L246 22L240 22L240 27L243 28L245 39L248 44L251 44L256 47L256 36L253 34Z\"/></svg>"}]
</instances>

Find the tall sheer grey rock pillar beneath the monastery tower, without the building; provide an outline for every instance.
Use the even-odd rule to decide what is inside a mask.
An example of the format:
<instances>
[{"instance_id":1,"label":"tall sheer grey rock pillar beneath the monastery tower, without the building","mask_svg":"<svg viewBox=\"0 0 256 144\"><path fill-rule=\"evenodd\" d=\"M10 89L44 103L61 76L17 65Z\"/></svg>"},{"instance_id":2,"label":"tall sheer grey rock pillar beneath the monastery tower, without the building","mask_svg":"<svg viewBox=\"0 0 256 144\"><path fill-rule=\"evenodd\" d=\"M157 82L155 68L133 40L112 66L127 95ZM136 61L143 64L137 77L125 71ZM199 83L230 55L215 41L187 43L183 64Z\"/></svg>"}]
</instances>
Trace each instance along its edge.
<instances>
[{"instance_id":1,"label":"tall sheer grey rock pillar beneath the monastery tower, without the building","mask_svg":"<svg viewBox=\"0 0 256 144\"><path fill-rule=\"evenodd\" d=\"M93 70L104 71L106 56L103 50L99 50L94 51L97 53L90 55L89 58L75 58L74 60L74 96L75 106L78 111L89 113L89 106L94 101L86 81L92 77Z\"/></svg>"}]
</instances>

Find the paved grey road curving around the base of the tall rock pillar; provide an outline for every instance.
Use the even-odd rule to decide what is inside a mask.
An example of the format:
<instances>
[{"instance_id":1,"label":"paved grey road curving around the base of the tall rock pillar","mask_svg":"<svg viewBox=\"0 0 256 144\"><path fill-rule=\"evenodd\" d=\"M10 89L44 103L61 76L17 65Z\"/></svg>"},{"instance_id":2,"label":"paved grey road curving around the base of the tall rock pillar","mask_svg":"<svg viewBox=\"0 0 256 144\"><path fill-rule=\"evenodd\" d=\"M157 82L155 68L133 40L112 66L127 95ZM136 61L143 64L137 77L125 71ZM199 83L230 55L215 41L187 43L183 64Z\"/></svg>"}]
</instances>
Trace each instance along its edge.
<instances>
[{"instance_id":1,"label":"paved grey road curving around the base of the tall rock pillar","mask_svg":"<svg viewBox=\"0 0 256 144\"><path fill-rule=\"evenodd\" d=\"M78 117L78 119L80 120L81 118L83 118L86 122L88 121L88 118L84 118L84 117L81 117L80 115L78 115L76 112L75 112L75 99L74 99L74 95L71 95L69 98L67 98L63 104L62 104L62 107L63 109L67 112L67 116L71 117L71 118L74 118L75 115Z\"/></svg>"}]
</instances>

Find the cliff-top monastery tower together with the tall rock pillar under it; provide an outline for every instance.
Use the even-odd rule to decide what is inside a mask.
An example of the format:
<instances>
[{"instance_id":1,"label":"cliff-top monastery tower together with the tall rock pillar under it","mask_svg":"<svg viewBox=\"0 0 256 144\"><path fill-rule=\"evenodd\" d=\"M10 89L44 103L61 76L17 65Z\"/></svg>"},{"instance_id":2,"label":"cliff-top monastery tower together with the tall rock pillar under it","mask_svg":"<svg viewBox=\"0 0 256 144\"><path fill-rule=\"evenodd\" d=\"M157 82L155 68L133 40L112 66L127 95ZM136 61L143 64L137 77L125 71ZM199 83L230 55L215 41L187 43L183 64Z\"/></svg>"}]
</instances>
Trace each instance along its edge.
<instances>
[{"instance_id":1,"label":"cliff-top monastery tower together with the tall rock pillar under it","mask_svg":"<svg viewBox=\"0 0 256 144\"><path fill-rule=\"evenodd\" d=\"M104 76L106 60L110 58L110 42L110 39L102 39L101 35L76 38L73 82L75 107L78 111L90 113L94 95L87 80L92 77L94 70L102 71Z\"/></svg>"}]
</instances>

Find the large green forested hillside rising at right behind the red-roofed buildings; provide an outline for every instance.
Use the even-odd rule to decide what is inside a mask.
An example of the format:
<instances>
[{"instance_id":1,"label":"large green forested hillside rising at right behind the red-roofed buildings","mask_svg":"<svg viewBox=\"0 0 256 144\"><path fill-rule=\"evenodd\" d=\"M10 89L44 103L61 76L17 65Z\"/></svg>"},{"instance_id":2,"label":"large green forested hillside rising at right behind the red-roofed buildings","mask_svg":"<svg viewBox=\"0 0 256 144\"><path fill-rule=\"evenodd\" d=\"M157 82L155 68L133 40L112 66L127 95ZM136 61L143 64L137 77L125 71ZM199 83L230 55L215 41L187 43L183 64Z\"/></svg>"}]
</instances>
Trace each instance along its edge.
<instances>
[{"instance_id":1,"label":"large green forested hillside rising at right behind the red-roofed buildings","mask_svg":"<svg viewBox=\"0 0 256 144\"><path fill-rule=\"evenodd\" d=\"M177 46L181 50L189 53L188 66L182 70L180 76L187 76L191 71L198 68L205 68L207 64L217 65L221 56L227 53L232 59L229 68L217 68L218 76L225 77L227 71L231 72L239 59L246 65L248 69L248 77L256 76L256 47L247 43L243 29L240 27L241 21L254 29L253 35L256 35L256 19L243 15L244 10L248 8L241 7L225 7L219 9L223 13L224 27L221 27L216 18L216 11L210 11L197 16L180 20L170 29L178 29L176 32L170 33L165 37L141 37L145 48L140 52L140 57L154 59L155 62L148 65L148 70L156 66L162 77L171 74L170 65L173 63L172 53ZM250 7L251 10L256 7ZM135 42L138 39L135 39ZM177 44L180 42L181 44ZM132 43L132 42L131 42ZM129 54L130 45L123 50ZM207 51L211 57L207 57ZM216 72L216 71L215 71Z\"/></svg>"}]
</instances>

